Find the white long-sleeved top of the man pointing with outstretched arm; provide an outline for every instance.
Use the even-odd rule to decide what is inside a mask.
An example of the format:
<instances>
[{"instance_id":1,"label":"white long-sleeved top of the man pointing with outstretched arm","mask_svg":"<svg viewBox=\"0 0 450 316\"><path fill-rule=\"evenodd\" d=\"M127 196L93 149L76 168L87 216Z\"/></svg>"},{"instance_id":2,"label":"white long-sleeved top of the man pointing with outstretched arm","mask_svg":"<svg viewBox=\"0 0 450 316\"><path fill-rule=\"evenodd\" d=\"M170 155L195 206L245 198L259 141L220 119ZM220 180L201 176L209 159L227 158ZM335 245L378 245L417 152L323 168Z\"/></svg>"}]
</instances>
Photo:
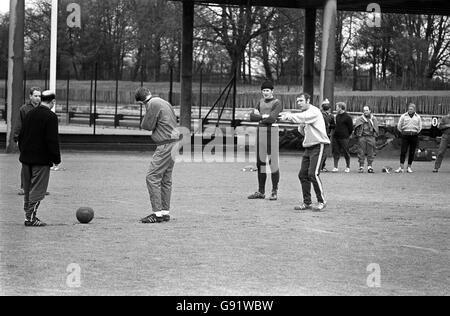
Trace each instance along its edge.
<instances>
[{"instance_id":1,"label":"white long-sleeved top of the man pointing with outstretched arm","mask_svg":"<svg viewBox=\"0 0 450 316\"><path fill-rule=\"evenodd\" d=\"M311 105L308 110L301 113L285 113L285 118L293 123L301 124L299 131L305 136L303 147L308 148L331 143L327 135L322 111L315 106Z\"/></svg>"}]
</instances>

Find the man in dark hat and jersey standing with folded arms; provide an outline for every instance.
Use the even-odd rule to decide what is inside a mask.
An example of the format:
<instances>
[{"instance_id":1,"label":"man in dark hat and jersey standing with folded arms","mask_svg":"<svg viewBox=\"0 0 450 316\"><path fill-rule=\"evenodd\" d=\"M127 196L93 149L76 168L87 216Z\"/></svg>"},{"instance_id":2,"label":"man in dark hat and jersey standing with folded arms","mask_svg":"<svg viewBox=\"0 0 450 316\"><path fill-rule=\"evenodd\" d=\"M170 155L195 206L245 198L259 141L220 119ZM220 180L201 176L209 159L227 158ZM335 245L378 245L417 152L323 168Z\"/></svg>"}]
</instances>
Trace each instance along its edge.
<instances>
[{"instance_id":1,"label":"man in dark hat and jersey standing with folded arms","mask_svg":"<svg viewBox=\"0 0 450 316\"><path fill-rule=\"evenodd\" d=\"M254 111L250 114L252 122L259 122L257 137L257 168L258 168L258 192L250 195L250 200L266 198L267 174L272 175L271 201L278 200L278 184L280 182L279 167L279 129L273 124L283 111L281 102L274 98L274 86L266 81L261 86L263 98L259 101ZM270 169L267 164L270 165Z\"/></svg>"}]
</instances>

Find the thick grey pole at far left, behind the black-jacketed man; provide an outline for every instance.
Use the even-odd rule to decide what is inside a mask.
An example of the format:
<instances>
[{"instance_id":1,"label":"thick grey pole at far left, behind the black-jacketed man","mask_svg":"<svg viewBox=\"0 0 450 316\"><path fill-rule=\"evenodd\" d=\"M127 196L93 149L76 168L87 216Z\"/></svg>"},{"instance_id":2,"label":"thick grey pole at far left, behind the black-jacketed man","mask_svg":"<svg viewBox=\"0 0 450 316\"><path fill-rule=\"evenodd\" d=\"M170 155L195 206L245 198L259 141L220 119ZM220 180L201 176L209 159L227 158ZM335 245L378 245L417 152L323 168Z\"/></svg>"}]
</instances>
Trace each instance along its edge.
<instances>
[{"instance_id":1,"label":"thick grey pole at far left, behind the black-jacketed man","mask_svg":"<svg viewBox=\"0 0 450 316\"><path fill-rule=\"evenodd\" d=\"M10 0L8 101L6 152L17 151L14 142L14 124L19 118L19 106L23 101L23 75L25 52L25 0Z\"/></svg>"}]
</instances>

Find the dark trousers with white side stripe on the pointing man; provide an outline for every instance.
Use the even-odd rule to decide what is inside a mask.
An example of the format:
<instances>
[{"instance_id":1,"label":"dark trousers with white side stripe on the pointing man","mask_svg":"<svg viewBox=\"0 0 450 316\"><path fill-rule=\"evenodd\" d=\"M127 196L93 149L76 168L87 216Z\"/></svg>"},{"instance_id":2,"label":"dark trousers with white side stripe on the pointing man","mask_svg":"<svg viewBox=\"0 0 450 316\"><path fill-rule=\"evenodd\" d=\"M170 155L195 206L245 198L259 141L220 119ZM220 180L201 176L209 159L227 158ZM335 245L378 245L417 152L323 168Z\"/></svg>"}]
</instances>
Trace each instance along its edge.
<instances>
[{"instance_id":1,"label":"dark trousers with white side stripe on the pointing man","mask_svg":"<svg viewBox=\"0 0 450 316\"><path fill-rule=\"evenodd\" d=\"M329 145L320 144L306 148L303 155L302 168L298 177L302 185L303 202L307 205L312 204L311 185L316 192L317 201L325 203L322 180L320 180L320 168L323 164L326 147L329 147Z\"/></svg>"}]
</instances>

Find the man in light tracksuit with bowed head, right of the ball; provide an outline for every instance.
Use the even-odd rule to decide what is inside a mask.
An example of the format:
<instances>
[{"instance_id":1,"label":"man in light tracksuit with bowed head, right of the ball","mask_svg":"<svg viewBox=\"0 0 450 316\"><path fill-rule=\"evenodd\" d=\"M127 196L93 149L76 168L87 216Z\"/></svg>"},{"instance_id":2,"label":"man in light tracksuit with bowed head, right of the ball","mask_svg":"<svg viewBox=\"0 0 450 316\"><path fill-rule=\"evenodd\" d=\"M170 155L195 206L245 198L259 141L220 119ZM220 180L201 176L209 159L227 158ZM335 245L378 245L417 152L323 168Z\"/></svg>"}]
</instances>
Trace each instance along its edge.
<instances>
[{"instance_id":1,"label":"man in light tracksuit with bowed head, right of the ball","mask_svg":"<svg viewBox=\"0 0 450 316\"><path fill-rule=\"evenodd\" d=\"M147 188L153 214L143 218L141 222L144 224L169 222L172 173L175 166L172 151L180 140L177 117L170 103L152 97L150 90L146 88L136 91L136 101L145 105L147 110L141 127L152 132L152 139L157 145L147 174Z\"/></svg>"}]
</instances>

